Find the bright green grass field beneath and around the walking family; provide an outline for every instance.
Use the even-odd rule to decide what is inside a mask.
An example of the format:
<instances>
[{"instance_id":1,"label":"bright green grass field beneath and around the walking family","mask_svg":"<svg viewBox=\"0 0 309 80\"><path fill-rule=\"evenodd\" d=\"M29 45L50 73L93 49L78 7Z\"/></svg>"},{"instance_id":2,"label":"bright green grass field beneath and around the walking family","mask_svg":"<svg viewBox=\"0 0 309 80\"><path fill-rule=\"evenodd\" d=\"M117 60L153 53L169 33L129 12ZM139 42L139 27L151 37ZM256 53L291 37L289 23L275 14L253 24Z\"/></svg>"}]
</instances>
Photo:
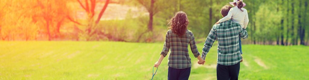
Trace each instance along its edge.
<instances>
[{"instance_id":1,"label":"bright green grass field beneath and around the walking family","mask_svg":"<svg viewBox=\"0 0 309 80\"><path fill-rule=\"evenodd\" d=\"M163 43L0 42L0 80L149 80ZM203 43L198 44L201 52ZM190 80L215 80L217 46L204 65L192 58ZM308 80L309 46L243 45L240 80ZM167 57L154 80L167 79Z\"/></svg>"}]
</instances>

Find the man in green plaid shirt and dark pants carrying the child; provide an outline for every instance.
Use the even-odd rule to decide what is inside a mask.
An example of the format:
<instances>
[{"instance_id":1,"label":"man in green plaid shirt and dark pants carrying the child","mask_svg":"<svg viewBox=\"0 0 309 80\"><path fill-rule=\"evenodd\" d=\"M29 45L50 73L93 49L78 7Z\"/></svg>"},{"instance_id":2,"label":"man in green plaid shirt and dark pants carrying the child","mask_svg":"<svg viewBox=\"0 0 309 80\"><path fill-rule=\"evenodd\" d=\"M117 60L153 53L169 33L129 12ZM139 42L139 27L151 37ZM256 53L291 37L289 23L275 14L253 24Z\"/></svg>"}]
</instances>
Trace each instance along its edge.
<instances>
[{"instance_id":1,"label":"man in green plaid shirt and dark pants carrying the child","mask_svg":"<svg viewBox=\"0 0 309 80\"><path fill-rule=\"evenodd\" d=\"M231 6L223 6L222 16L225 17L230 9ZM204 60L214 41L218 39L218 80L238 80L239 62L242 60L239 51L239 37L248 38L247 30L230 19L214 25L205 41L201 56ZM204 62L199 64L204 64Z\"/></svg>"}]
</instances>

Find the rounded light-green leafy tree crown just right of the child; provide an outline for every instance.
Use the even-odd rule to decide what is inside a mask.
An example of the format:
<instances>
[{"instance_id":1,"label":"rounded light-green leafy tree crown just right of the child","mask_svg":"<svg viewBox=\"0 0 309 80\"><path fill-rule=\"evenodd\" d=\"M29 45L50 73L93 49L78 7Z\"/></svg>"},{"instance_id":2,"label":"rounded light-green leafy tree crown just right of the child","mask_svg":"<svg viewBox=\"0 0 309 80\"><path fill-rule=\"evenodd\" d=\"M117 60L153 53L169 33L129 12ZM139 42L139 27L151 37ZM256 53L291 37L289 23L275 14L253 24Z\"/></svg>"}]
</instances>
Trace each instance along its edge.
<instances>
[{"instance_id":1,"label":"rounded light-green leafy tree crown just right of the child","mask_svg":"<svg viewBox=\"0 0 309 80\"><path fill-rule=\"evenodd\" d=\"M256 30L252 34L258 38L257 41L275 41L276 36L280 34L282 14L272 8L271 5L261 5L255 14Z\"/></svg>"}]
</instances>

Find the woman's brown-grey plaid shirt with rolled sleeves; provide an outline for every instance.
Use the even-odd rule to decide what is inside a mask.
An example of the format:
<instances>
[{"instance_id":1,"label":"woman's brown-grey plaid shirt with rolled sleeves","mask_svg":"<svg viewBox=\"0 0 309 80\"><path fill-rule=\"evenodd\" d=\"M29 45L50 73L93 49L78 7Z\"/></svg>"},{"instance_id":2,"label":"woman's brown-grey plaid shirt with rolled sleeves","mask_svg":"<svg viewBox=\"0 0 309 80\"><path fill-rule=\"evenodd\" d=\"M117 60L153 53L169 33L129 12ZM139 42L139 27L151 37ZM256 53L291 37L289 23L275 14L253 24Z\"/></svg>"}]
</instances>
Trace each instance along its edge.
<instances>
[{"instance_id":1,"label":"woman's brown-grey plaid shirt with rolled sleeves","mask_svg":"<svg viewBox=\"0 0 309 80\"><path fill-rule=\"evenodd\" d=\"M184 69L191 67L191 58L188 53L188 45L190 44L191 51L196 58L200 53L197 50L194 35L190 30L187 30L182 37L174 34L171 30L166 33L166 38L161 54L165 57L171 49L168 57L168 66L176 69Z\"/></svg>"}]
</instances>

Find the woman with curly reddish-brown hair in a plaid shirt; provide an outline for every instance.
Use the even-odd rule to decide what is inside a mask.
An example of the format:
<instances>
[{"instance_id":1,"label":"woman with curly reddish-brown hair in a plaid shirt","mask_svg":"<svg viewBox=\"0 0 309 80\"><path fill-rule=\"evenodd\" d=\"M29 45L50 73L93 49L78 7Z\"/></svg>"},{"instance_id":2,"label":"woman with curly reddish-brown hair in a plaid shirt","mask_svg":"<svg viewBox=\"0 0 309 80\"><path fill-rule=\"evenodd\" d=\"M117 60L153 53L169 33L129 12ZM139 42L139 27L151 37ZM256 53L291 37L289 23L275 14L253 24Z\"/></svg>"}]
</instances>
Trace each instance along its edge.
<instances>
[{"instance_id":1,"label":"woman with curly reddish-brown hair in a plaid shirt","mask_svg":"<svg viewBox=\"0 0 309 80\"><path fill-rule=\"evenodd\" d=\"M187 30L189 24L187 14L179 11L168 23L169 29L166 33L165 42L161 56L154 67L159 67L163 58L167 55L169 49L171 53L168 58L168 80L188 80L191 71L191 58L188 54L188 45L190 44L191 51L199 64L204 64L197 50L194 35L190 30Z\"/></svg>"}]
</instances>

